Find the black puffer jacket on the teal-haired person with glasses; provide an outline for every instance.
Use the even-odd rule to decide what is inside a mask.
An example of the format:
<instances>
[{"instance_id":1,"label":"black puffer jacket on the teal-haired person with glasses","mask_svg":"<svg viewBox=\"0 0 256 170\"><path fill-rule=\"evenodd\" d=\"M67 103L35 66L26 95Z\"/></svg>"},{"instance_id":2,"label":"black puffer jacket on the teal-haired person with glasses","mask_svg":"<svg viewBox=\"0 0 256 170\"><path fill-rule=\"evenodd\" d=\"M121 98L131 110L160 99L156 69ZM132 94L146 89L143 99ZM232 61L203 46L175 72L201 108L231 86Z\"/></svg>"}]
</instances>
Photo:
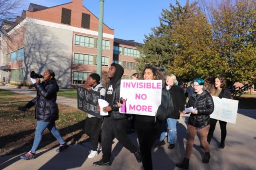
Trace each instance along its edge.
<instances>
[{"instance_id":1,"label":"black puffer jacket on the teal-haired person with glasses","mask_svg":"<svg viewBox=\"0 0 256 170\"><path fill-rule=\"evenodd\" d=\"M197 108L198 114L190 114L189 124L196 128L204 128L206 125L210 124L210 114L212 114L214 109L214 104L212 96L206 90L198 96L194 93L190 98L188 105L186 107Z\"/></svg>"}]
</instances>

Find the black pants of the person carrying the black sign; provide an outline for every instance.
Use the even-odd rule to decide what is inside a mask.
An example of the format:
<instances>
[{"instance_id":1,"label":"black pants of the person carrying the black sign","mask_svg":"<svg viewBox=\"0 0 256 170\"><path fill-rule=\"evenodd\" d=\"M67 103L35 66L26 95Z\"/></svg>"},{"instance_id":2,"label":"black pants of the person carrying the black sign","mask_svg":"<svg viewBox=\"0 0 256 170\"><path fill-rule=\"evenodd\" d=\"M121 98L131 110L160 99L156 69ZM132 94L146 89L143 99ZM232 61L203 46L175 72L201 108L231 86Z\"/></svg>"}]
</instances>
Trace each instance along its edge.
<instances>
[{"instance_id":1,"label":"black pants of the person carrying the black sign","mask_svg":"<svg viewBox=\"0 0 256 170\"><path fill-rule=\"evenodd\" d=\"M92 149L98 148L98 143L101 142L101 125L102 120L98 117L87 117L85 120L85 133L90 137Z\"/></svg>"}]
</instances>

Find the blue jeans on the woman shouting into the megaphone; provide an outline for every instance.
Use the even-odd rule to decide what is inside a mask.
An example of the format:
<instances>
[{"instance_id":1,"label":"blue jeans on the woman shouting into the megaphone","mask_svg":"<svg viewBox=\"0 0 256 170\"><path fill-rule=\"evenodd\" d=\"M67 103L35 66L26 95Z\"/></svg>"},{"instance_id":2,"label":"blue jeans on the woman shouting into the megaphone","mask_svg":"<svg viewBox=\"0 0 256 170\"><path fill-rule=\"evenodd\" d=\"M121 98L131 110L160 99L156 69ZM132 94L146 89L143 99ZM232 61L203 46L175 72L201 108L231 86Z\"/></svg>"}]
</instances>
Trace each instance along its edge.
<instances>
[{"instance_id":1,"label":"blue jeans on the woman shouting into the megaphone","mask_svg":"<svg viewBox=\"0 0 256 170\"><path fill-rule=\"evenodd\" d=\"M59 141L61 145L65 144L65 141L60 136L59 130L56 128L55 122L44 122L44 121L37 121L36 127L36 135L34 135L34 142L32 146L32 153L36 153L37 147L41 141L43 131L48 128L54 137Z\"/></svg>"}]
</instances>

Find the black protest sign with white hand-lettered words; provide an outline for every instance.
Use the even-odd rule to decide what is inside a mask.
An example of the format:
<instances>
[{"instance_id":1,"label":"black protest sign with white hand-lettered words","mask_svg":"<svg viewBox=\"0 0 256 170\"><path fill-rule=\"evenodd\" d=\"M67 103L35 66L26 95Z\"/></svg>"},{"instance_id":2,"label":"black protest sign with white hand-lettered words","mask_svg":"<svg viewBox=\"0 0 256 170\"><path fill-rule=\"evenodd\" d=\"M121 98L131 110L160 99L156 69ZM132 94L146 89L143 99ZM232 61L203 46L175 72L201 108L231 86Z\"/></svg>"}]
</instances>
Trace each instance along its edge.
<instances>
[{"instance_id":1,"label":"black protest sign with white hand-lettered words","mask_svg":"<svg viewBox=\"0 0 256 170\"><path fill-rule=\"evenodd\" d=\"M88 91L85 87L77 86L77 94L78 109L101 118L100 112L97 109L100 92Z\"/></svg>"}]
</instances>

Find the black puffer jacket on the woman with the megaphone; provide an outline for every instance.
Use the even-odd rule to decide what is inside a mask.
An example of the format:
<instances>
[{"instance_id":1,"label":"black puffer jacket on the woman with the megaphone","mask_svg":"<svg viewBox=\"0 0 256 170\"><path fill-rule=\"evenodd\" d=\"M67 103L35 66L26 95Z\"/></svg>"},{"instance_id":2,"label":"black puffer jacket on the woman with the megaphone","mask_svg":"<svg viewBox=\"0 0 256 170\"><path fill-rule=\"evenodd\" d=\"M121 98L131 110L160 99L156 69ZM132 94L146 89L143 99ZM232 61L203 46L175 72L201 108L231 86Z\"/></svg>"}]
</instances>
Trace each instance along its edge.
<instances>
[{"instance_id":1,"label":"black puffer jacket on the woman with the megaphone","mask_svg":"<svg viewBox=\"0 0 256 170\"><path fill-rule=\"evenodd\" d=\"M48 80L35 84L37 97L32 99L25 107L30 108L36 105L35 118L38 121L56 121L59 119L59 109L56 104L59 86L56 80Z\"/></svg>"}]
</instances>

